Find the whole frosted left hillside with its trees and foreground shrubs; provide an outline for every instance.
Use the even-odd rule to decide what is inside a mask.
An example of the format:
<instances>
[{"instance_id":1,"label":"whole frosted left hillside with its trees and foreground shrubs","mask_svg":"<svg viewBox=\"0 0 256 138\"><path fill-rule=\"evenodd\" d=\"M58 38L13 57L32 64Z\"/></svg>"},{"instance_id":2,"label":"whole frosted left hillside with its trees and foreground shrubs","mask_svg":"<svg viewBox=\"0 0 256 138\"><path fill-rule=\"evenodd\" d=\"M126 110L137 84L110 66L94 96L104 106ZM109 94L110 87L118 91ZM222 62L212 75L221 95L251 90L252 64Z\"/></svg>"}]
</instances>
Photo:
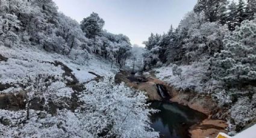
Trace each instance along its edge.
<instances>
[{"instance_id":1,"label":"whole frosted left hillside with its trees and foreground shrubs","mask_svg":"<svg viewBox=\"0 0 256 138\"><path fill-rule=\"evenodd\" d=\"M129 38L57 9L0 0L0 137L158 137L145 94L114 83Z\"/></svg>"}]
</instances>

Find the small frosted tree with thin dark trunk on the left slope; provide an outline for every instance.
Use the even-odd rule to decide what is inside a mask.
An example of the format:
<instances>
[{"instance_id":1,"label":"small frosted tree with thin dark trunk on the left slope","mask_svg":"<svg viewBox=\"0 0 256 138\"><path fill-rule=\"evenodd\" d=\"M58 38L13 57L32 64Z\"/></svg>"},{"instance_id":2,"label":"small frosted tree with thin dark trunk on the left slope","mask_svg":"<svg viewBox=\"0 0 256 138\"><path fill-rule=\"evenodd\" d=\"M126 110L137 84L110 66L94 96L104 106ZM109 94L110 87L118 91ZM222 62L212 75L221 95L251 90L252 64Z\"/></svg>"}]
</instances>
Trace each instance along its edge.
<instances>
[{"instance_id":1,"label":"small frosted tree with thin dark trunk on the left slope","mask_svg":"<svg viewBox=\"0 0 256 138\"><path fill-rule=\"evenodd\" d=\"M66 84L58 76L39 74L29 76L21 83L26 99L27 120L30 118L30 106L33 100L42 101L45 107L49 103L67 106L60 97L70 97L72 89L66 88Z\"/></svg>"}]
</instances>

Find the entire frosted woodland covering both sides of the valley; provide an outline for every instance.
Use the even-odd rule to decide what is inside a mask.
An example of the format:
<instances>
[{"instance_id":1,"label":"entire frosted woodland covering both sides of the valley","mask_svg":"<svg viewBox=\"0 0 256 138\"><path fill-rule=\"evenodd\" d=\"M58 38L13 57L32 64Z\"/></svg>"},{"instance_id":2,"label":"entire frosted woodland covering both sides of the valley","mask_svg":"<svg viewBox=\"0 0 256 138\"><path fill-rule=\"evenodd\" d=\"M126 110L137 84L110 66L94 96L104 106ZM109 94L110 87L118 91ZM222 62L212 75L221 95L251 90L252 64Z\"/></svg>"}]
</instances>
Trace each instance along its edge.
<instances>
[{"instance_id":1,"label":"entire frosted woodland covering both sides of the valley","mask_svg":"<svg viewBox=\"0 0 256 138\"><path fill-rule=\"evenodd\" d=\"M255 124L255 0L198 0L145 48L104 25L52 0L0 0L0 137L160 137L149 118L159 111L115 82L120 71L210 97L231 136Z\"/></svg>"}]
</instances>

